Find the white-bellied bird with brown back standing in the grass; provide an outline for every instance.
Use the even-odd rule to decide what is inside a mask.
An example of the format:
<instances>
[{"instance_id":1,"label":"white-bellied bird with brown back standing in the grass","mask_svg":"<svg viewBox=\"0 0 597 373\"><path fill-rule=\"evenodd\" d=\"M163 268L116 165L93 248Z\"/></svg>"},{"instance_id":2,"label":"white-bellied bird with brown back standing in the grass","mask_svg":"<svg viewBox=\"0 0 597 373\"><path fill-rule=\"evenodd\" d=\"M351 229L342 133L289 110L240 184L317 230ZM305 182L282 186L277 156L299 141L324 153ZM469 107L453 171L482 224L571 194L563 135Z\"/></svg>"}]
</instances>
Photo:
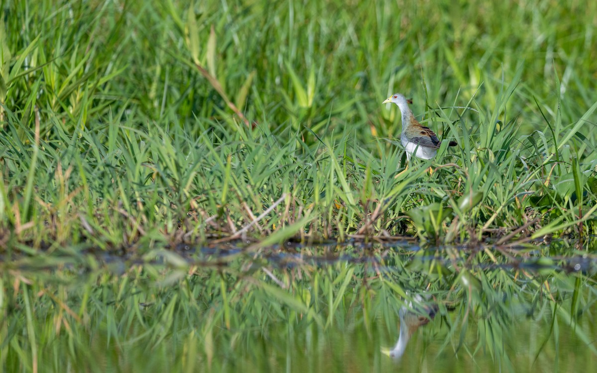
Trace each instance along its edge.
<instances>
[{"instance_id":1,"label":"white-bellied bird with brown back standing in the grass","mask_svg":"<svg viewBox=\"0 0 597 373\"><path fill-rule=\"evenodd\" d=\"M414 118L413 112L404 95L395 93L383 101L383 104L395 103L400 108L402 113L402 134L400 142L407 152L407 161L410 161L412 155L421 159L432 159L438 153L439 146L442 141L429 127L421 125L417 119ZM458 143L454 140L450 141L450 146L457 146Z\"/></svg>"}]
</instances>

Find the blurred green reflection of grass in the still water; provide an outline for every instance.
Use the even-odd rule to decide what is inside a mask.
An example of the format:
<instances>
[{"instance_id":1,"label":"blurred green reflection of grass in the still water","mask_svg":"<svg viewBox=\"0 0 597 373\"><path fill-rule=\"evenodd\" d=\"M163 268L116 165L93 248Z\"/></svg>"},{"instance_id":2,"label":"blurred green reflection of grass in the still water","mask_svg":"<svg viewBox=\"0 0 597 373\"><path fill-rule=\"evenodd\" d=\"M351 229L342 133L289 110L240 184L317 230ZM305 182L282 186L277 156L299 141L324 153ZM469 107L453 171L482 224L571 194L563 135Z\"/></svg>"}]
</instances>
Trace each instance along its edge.
<instances>
[{"instance_id":1,"label":"blurred green reflection of grass in the still water","mask_svg":"<svg viewBox=\"0 0 597 373\"><path fill-rule=\"evenodd\" d=\"M595 362L593 279L480 267L488 257L510 261L493 249L427 251L435 260L387 249L372 248L361 263L321 266L298 259L272 266L261 250L256 260L240 255L219 269L174 252L167 264L125 264L124 272L91 257L57 270L35 270L42 258L5 263L3 363L8 371L32 362L40 371L390 369L381 347L395 343L399 310L421 291L439 312L414 334L401 366L537 371ZM306 259L322 254L296 250Z\"/></svg>"}]
</instances>

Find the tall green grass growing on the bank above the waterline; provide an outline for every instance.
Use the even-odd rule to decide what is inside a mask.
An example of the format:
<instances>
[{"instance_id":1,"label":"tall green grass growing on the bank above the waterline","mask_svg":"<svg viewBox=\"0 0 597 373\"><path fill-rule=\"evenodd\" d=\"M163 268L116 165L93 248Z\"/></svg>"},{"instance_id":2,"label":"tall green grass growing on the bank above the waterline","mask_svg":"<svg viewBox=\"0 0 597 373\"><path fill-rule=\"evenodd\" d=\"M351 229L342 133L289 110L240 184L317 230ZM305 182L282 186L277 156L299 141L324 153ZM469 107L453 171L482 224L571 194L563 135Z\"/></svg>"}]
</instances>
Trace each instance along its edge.
<instances>
[{"instance_id":1,"label":"tall green grass growing on the bank above the waterline","mask_svg":"<svg viewBox=\"0 0 597 373\"><path fill-rule=\"evenodd\" d=\"M596 7L2 2L0 241L592 234Z\"/></svg>"}]
</instances>

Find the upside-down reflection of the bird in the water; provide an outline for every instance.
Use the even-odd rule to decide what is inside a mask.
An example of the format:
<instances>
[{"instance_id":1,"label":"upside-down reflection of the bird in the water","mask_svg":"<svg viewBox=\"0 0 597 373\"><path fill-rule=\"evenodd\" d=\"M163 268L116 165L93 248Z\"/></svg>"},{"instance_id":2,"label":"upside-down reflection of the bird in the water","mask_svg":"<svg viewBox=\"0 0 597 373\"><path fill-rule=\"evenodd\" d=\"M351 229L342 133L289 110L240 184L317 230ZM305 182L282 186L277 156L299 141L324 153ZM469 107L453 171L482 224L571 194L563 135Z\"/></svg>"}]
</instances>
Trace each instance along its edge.
<instances>
[{"instance_id":1,"label":"upside-down reflection of the bird in the water","mask_svg":"<svg viewBox=\"0 0 597 373\"><path fill-rule=\"evenodd\" d=\"M418 327L429 323L439 311L439 306L436 303L421 303L423 302L421 295L415 295L413 301L408 303L408 307L402 306L398 312L400 316L400 336L398 337L398 343L391 350L382 350L383 353L393 359L400 359L402 357L407 348L408 341L414 332L417 331Z\"/></svg>"}]
</instances>

